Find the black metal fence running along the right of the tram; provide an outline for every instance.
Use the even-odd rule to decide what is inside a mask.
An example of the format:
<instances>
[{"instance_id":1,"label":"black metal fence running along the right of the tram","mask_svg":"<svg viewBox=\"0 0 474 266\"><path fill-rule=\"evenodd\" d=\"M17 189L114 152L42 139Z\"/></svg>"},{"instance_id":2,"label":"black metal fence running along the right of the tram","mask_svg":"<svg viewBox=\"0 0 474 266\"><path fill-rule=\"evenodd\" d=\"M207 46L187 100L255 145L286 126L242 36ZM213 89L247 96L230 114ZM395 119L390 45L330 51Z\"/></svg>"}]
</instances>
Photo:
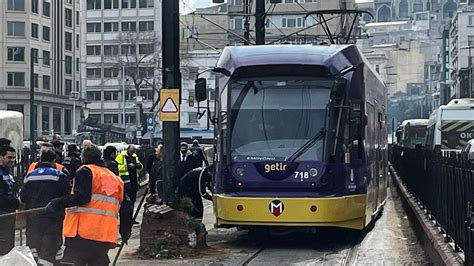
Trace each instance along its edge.
<instances>
[{"instance_id":1,"label":"black metal fence running along the right of the tram","mask_svg":"<svg viewBox=\"0 0 474 266\"><path fill-rule=\"evenodd\" d=\"M466 265L474 265L474 162L455 153L394 146L392 163L446 240L464 251Z\"/></svg>"}]
</instances>

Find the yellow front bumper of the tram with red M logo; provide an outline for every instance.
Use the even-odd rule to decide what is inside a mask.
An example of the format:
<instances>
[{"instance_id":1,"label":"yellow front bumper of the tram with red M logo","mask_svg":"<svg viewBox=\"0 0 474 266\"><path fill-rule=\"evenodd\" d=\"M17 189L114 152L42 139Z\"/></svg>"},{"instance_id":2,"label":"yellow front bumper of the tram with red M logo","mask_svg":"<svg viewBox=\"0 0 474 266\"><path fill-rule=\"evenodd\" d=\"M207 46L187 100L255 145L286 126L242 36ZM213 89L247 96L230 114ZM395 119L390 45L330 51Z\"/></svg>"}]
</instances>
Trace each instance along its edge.
<instances>
[{"instance_id":1,"label":"yellow front bumper of the tram with red M logo","mask_svg":"<svg viewBox=\"0 0 474 266\"><path fill-rule=\"evenodd\" d=\"M363 229L366 194L333 198L214 195L217 226L334 226Z\"/></svg>"}]
</instances>

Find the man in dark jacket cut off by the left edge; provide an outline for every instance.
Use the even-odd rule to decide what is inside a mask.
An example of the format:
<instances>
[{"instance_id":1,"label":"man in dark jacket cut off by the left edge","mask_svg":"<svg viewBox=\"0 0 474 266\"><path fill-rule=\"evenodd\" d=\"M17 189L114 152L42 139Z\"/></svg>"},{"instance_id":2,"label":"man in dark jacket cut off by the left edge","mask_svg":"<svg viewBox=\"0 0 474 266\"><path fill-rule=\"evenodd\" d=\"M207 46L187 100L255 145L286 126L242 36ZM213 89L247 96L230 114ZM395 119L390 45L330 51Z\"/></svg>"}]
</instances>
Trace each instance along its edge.
<instances>
[{"instance_id":1,"label":"man in dark jacket cut off by the left edge","mask_svg":"<svg viewBox=\"0 0 474 266\"><path fill-rule=\"evenodd\" d=\"M15 212L20 205L15 191L15 181L10 170L15 164L15 149L0 146L0 215ZM5 255L15 244L15 216L0 218L0 256Z\"/></svg>"}]
</instances>

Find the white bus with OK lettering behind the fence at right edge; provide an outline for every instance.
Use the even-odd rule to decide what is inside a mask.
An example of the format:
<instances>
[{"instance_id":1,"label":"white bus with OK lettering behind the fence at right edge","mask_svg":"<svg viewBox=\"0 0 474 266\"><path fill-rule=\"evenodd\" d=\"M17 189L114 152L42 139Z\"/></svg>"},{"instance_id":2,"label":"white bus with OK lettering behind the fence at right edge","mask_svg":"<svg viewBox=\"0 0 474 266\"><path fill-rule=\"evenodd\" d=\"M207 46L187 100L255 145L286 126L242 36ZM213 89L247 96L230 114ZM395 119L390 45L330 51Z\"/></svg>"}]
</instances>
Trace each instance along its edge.
<instances>
[{"instance_id":1,"label":"white bus with OK lettering behind the fence at right edge","mask_svg":"<svg viewBox=\"0 0 474 266\"><path fill-rule=\"evenodd\" d=\"M460 152L474 138L474 98L454 99L430 115L426 149Z\"/></svg>"}]
</instances>

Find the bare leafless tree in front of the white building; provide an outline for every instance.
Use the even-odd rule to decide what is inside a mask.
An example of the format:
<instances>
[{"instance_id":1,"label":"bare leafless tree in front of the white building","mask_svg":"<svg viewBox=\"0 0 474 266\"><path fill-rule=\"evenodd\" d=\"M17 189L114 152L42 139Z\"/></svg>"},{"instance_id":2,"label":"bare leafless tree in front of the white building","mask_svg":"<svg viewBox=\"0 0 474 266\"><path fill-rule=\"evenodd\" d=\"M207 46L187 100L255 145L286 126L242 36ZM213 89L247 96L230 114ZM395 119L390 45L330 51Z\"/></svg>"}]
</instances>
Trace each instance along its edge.
<instances>
[{"instance_id":1,"label":"bare leafless tree in front of the white building","mask_svg":"<svg viewBox=\"0 0 474 266\"><path fill-rule=\"evenodd\" d=\"M140 96L143 89L149 88L158 94L161 73L161 45L155 32L122 32L119 35L119 41L121 49L116 57L115 68L117 72L125 71L125 78L130 81L136 96ZM146 117L143 105L140 103L139 116L137 119L140 119L140 125L143 133L145 133L147 128Z\"/></svg>"}]
</instances>

